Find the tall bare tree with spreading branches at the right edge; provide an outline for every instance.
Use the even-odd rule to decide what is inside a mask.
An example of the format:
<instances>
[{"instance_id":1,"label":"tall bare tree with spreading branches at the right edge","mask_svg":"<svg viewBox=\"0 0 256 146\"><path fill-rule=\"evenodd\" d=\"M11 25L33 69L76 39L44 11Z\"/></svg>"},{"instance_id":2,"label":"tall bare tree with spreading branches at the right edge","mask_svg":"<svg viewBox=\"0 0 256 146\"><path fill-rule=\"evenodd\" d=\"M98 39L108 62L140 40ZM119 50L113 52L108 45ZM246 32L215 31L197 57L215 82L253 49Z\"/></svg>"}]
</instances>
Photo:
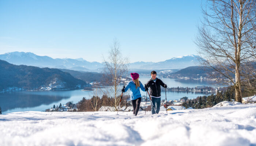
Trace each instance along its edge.
<instances>
[{"instance_id":1,"label":"tall bare tree with spreading branches at the right edge","mask_svg":"<svg viewBox=\"0 0 256 146\"><path fill-rule=\"evenodd\" d=\"M232 82L235 101L242 102L244 70L254 68L251 65L256 61L255 0L207 0L203 14L196 38L198 52L204 58L200 62Z\"/></svg>"}]
</instances>

